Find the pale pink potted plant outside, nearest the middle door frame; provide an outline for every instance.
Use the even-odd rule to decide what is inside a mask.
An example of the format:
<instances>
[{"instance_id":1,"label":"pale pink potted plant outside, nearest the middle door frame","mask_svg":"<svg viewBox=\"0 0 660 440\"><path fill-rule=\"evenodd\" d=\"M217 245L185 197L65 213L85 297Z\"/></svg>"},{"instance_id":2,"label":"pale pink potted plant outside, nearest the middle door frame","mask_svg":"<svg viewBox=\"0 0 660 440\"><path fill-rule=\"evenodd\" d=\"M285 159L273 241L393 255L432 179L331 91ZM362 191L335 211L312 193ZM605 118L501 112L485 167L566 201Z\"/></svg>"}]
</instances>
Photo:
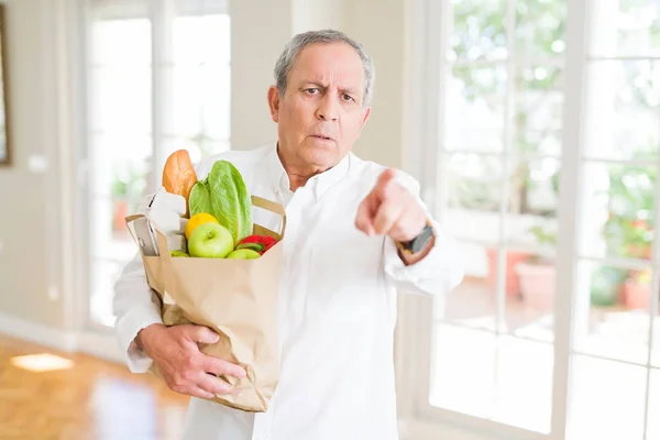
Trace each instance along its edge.
<instances>
[{"instance_id":1,"label":"pale pink potted plant outside, nearest the middle door frame","mask_svg":"<svg viewBox=\"0 0 660 440\"><path fill-rule=\"evenodd\" d=\"M541 245L554 245L557 234L536 226L529 229ZM554 258L535 255L516 265L522 300L530 307L549 310L554 305L557 270Z\"/></svg>"}]
</instances>

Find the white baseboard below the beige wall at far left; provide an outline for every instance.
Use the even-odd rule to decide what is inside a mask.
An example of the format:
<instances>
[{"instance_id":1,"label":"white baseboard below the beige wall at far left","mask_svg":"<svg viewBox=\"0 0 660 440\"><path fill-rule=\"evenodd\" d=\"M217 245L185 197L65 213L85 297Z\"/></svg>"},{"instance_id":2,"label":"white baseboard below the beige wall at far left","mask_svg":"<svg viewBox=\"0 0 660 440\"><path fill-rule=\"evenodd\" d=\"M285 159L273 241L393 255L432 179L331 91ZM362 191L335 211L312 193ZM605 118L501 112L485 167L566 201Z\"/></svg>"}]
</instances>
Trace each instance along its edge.
<instances>
[{"instance_id":1,"label":"white baseboard below the beige wall at far left","mask_svg":"<svg viewBox=\"0 0 660 440\"><path fill-rule=\"evenodd\" d=\"M0 333L69 353L75 352L78 345L74 332L6 314L0 314Z\"/></svg>"}]
</instances>

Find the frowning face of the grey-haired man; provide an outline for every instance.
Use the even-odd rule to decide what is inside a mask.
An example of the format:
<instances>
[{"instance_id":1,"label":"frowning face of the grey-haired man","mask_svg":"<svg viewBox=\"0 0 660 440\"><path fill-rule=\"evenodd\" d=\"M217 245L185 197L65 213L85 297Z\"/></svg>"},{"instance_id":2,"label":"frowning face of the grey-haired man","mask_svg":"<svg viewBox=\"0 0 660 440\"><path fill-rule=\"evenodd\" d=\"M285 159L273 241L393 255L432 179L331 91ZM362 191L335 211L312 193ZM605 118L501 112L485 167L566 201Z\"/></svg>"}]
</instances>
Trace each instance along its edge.
<instances>
[{"instance_id":1,"label":"frowning face of the grey-haired man","mask_svg":"<svg viewBox=\"0 0 660 440\"><path fill-rule=\"evenodd\" d=\"M349 44L316 43L298 54L285 95L268 90L279 148L289 161L324 170L351 151L370 113L364 80L362 61Z\"/></svg>"}]
</instances>

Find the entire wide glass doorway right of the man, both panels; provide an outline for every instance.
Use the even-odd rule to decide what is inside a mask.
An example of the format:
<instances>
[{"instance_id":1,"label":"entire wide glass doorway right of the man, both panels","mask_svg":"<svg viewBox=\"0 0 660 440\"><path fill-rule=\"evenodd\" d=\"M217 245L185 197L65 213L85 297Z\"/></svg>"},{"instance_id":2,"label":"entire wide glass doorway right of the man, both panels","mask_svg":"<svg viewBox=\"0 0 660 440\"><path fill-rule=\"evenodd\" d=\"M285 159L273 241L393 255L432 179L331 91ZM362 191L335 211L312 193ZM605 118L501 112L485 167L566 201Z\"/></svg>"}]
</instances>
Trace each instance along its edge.
<instances>
[{"instance_id":1,"label":"entire wide glass doorway right of the man, both panels","mask_svg":"<svg viewBox=\"0 0 660 440\"><path fill-rule=\"evenodd\" d=\"M427 184L468 273L433 302L417 413L506 438L658 438L660 2L442 3L425 3L441 54Z\"/></svg>"}]
</instances>

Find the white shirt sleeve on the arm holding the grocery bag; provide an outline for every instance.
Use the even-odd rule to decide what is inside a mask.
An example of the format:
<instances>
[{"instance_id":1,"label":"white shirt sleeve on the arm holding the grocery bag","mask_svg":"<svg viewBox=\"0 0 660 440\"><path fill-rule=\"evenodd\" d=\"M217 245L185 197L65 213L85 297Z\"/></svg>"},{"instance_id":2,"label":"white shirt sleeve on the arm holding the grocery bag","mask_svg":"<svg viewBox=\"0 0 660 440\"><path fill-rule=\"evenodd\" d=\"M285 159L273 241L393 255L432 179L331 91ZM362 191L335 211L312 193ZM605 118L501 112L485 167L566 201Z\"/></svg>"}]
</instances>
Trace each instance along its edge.
<instances>
[{"instance_id":1,"label":"white shirt sleeve on the arm holding the grocery bag","mask_svg":"<svg viewBox=\"0 0 660 440\"><path fill-rule=\"evenodd\" d=\"M114 331L129 370L145 373L153 361L138 346L135 337L152 323L163 323L161 304L144 274L140 253L123 268L114 283L112 307Z\"/></svg>"}]
</instances>

